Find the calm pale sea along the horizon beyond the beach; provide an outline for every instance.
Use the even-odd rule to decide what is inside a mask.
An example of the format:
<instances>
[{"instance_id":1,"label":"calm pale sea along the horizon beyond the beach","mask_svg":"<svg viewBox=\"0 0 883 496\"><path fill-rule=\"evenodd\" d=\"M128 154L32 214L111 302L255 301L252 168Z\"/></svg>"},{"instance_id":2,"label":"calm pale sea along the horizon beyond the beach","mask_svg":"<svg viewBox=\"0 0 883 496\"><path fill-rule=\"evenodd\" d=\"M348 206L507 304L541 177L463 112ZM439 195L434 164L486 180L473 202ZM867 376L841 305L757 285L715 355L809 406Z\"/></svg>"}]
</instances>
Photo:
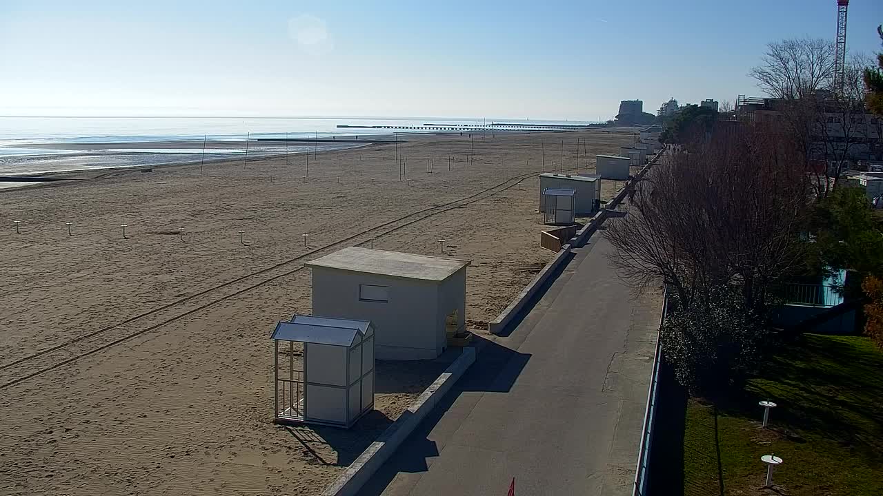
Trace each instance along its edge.
<instances>
[{"instance_id":1,"label":"calm pale sea along the horizon beyond the beach","mask_svg":"<svg viewBox=\"0 0 883 496\"><path fill-rule=\"evenodd\" d=\"M245 138L336 139L391 134L391 130L340 129L338 124L417 126L483 124L476 119L369 117L16 117L0 116L0 176L82 169L139 167L200 160L203 140L211 143L206 158L245 153ZM487 123L490 123L487 120ZM507 123L530 123L507 119ZM557 124L552 121L541 121ZM568 124L584 124L570 122ZM587 123L585 123L587 124ZM399 132L396 130L396 132ZM407 132L407 131L405 131ZM416 131L411 131L416 132ZM139 143L175 142L170 147ZM284 153L278 143L249 142L249 154ZM356 146L322 143L322 149ZM290 153L306 144L289 146Z\"/></svg>"}]
</instances>

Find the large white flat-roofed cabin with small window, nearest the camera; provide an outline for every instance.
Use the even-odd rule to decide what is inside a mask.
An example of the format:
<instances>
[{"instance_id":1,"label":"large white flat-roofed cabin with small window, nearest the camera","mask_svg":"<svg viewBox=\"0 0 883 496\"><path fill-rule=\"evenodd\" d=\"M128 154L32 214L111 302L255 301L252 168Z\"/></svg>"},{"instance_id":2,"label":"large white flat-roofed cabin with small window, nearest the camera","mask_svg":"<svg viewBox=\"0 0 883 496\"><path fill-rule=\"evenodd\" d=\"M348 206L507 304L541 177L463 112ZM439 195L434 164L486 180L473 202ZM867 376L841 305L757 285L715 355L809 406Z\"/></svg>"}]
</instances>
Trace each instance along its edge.
<instances>
[{"instance_id":1,"label":"large white flat-roofed cabin with small window, nearest the camera","mask_svg":"<svg viewBox=\"0 0 883 496\"><path fill-rule=\"evenodd\" d=\"M466 327L469 260L361 247L307 262L313 313L374 324L377 358L426 360Z\"/></svg>"}]
</instances>

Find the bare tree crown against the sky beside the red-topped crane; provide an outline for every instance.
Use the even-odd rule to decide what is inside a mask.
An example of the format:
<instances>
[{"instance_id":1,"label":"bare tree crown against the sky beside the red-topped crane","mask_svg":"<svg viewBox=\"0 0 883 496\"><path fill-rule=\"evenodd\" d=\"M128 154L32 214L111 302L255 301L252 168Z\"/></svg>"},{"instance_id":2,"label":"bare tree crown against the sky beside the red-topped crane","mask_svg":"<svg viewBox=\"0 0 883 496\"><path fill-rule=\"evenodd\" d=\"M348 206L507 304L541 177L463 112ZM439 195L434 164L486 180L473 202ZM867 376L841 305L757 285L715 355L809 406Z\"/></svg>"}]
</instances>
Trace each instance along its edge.
<instances>
[{"instance_id":1,"label":"bare tree crown against the sky beside the red-topped crane","mask_svg":"<svg viewBox=\"0 0 883 496\"><path fill-rule=\"evenodd\" d=\"M834 51L834 42L821 38L774 41L748 75L773 98L802 98L831 86Z\"/></svg>"}]
</instances>

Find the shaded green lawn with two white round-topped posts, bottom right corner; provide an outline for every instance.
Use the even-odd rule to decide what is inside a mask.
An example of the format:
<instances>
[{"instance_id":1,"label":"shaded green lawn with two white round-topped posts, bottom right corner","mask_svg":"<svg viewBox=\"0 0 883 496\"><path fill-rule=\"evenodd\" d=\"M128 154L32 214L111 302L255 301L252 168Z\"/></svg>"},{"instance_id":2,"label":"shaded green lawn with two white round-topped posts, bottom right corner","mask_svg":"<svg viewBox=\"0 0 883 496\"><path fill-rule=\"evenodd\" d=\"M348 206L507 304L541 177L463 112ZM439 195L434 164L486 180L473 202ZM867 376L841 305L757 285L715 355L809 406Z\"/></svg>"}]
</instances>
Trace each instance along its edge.
<instances>
[{"instance_id":1,"label":"shaded green lawn with two white round-topped posts, bottom right corner","mask_svg":"<svg viewBox=\"0 0 883 496\"><path fill-rule=\"evenodd\" d=\"M768 429L760 400L779 405ZM771 453L784 460L781 494L883 494L883 353L864 337L806 334L738 397L689 401L684 494L774 494L760 489Z\"/></svg>"}]
</instances>

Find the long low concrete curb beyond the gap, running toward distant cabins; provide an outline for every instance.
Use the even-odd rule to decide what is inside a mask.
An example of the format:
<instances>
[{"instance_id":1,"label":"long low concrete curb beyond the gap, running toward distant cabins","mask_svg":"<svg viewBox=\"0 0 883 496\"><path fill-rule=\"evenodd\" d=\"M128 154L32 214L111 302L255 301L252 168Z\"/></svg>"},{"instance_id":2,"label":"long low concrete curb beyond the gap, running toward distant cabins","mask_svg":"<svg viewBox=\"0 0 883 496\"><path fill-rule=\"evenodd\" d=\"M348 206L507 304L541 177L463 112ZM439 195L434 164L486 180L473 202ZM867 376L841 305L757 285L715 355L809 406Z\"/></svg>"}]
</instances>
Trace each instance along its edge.
<instances>
[{"instance_id":1,"label":"long low concrete curb beyond the gap, running toward distant cabins","mask_svg":"<svg viewBox=\"0 0 883 496\"><path fill-rule=\"evenodd\" d=\"M663 148L664 150L664 148ZM626 182L623 189L616 193L613 199L608 201L607 206L604 210L600 211L589 223L583 226L583 229L579 229L577 234L574 237L570 238L568 244L564 244L561 248L561 251L555 255L555 258L550 260L549 263L546 264L546 267L540 271L540 274L537 274L533 280L525 286L525 289L522 289L518 296L509 303L509 306L503 309L500 312L500 315L497 315L497 318L491 320L487 324L487 330L491 332L491 334L500 334L506 326L509 325L509 322L512 321L513 318L521 312L522 309L525 308L525 304L531 301L531 298L537 294L537 291L548 281L549 275L554 274L555 270L558 267L561 267L562 262L568 259L568 255L570 254L570 249L572 247L583 246L586 241L598 230L601 224L604 223L610 216L610 210L618 207L620 203L623 202L626 195L629 194L629 190L634 187L635 183L643 179L648 170L653 167L660 156L661 153L657 153L653 156L653 159L650 162L647 162L643 168L638 171L638 174L635 177L632 177L629 181Z\"/></svg>"}]
</instances>

